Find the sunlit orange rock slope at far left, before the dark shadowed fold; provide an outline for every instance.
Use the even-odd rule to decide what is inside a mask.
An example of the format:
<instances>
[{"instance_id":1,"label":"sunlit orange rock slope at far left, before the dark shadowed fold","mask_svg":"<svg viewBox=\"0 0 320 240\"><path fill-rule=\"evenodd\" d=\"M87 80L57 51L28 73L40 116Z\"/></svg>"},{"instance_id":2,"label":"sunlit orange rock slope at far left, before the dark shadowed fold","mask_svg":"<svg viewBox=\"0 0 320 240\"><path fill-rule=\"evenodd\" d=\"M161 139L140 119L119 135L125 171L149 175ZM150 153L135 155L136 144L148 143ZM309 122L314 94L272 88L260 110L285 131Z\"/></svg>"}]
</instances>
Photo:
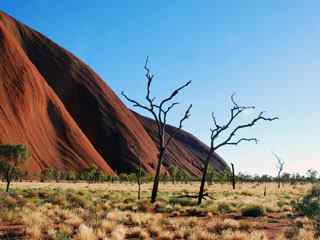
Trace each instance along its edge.
<instances>
[{"instance_id":1,"label":"sunlit orange rock slope at far left, before the dark shadowed fold","mask_svg":"<svg viewBox=\"0 0 320 240\"><path fill-rule=\"evenodd\" d=\"M81 170L95 164L114 174L64 104L0 21L0 142L24 143L31 172L44 167Z\"/></svg>"}]
</instances>

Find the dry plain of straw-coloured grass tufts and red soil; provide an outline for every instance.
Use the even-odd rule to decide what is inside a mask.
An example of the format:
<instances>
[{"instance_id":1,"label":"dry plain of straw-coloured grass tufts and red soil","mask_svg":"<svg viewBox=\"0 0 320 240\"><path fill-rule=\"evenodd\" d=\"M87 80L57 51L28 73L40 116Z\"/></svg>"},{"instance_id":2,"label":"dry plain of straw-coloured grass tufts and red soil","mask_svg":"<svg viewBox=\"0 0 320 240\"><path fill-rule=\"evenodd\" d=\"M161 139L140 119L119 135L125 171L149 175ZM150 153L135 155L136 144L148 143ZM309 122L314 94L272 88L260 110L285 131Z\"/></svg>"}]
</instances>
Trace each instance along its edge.
<instances>
[{"instance_id":1,"label":"dry plain of straw-coloured grass tufts and red soil","mask_svg":"<svg viewBox=\"0 0 320 240\"><path fill-rule=\"evenodd\" d=\"M196 206L199 183L151 183L137 199L134 183L14 183L0 192L0 239L314 239L307 217L293 210L311 184L229 184L207 187L212 199ZM4 184L0 183L4 189Z\"/></svg>"}]
</instances>

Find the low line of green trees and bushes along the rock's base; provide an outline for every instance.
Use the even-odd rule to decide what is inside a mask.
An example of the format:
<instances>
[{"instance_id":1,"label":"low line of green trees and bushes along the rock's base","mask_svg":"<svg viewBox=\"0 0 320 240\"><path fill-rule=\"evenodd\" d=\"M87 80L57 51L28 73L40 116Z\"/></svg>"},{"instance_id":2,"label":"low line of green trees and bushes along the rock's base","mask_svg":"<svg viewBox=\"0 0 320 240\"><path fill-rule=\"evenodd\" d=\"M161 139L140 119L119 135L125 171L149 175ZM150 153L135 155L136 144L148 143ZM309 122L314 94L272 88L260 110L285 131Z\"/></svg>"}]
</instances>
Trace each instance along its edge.
<instances>
[{"instance_id":1,"label":"low line of green trees and bushes along the rock's base","mask_svg":"<svg viewBox=\"0 0 320 240\"><path fill-rule=\"evenodd\" d=\"M14 145L12 145L14 146ZM4 145L0 145L0 155L2 152L2 148ZM7 148L7 146L5 146ZM26 148L24 146L23 148ZM20 160L21 161L21 160ZM22 162L21 162L22 163ZM9 186L12 181L24 181L30 179L30 175L28 175L27 171L22 171L20 169L20 165L12 166L8 168L8 162L4 161L2 157L2 161L0 160L0 176L2 181L7 182L6 189L9 189ZM11 171L11 173L9 173ZM81 182L85 181L88 183L137 183L139 181L139 176L136 173L119 173L116 176L106 175L96 166L88 167L82 171L59 171L53 168L44 168L39 173L33 174L31 176L34 179L38 179L41 182L55 181L55 182ZM153 182L153 176L147 174L145 171L141 171L140 175L140 183L150 183ZM169 168L169 174L161 175L160 182L162 183L192 183L199 182L201 177L196 177L188 174L183 169L178 168L177 166L172 166ZM236 184L242 183L272 183L278 182L279 176L271 176L267 174L262 175L252 175L245 174L239 172L233 178L232 173L229 170L225 171L216 171L212 164L208 167L208 172L206 176L206 182L208 185L216 184L230 184L233 186ZM280 176L281 184L296 184L296 183L315 183L320 182L320 174L317 170L309 169L305 174L290 174L284 172Z\"/></svg>"}]
</instances>

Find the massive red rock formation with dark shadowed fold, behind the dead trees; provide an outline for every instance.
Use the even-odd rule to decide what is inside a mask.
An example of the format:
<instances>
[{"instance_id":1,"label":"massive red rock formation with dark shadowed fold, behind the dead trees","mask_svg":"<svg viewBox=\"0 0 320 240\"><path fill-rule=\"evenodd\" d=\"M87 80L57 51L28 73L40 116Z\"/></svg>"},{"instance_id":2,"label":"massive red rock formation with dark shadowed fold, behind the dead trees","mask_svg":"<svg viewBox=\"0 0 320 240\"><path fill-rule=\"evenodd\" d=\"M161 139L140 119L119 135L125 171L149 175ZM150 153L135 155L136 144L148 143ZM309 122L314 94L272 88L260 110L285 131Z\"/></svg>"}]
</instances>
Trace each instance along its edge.
<instances>
[{"instance_id":1,"label":"massive red rock formation with dark shadowed fold, behind the dead trees","mask_svg":"<svg viewBox=\"0 0 320 240\"><path fill-rule=\"evenodd\" d=\"M140 159L154 173L158 149L152 125L138 120L85 63L2 12L0 52L0 143L29 146L26 170L96 165L116 174L135 170ZM205 154L207 147L186 132L174 144L167 162L198 174L200 160L185 156ZM185 149L190 144L193 150Z\"/></svg>"}]
</instances>

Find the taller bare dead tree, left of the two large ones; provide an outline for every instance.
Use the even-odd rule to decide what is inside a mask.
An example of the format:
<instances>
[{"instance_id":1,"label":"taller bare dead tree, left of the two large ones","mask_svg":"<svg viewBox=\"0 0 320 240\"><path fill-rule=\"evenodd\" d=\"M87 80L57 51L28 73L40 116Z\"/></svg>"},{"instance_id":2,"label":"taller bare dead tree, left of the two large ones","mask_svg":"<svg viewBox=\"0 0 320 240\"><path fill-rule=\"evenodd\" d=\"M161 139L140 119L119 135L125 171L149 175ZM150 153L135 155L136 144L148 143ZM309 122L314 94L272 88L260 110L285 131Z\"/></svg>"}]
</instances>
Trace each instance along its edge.
<instances>
[{"instance_id":1,"label":"taller bare dead tree, left of the two large ones","mask_svg":"<svg viewBox=\"0 0 320 240\"><path fill-rule=\"evenodd\" d=\"M133 100L129 98L124 92L122 92L122 96L129 102L133 103L134 107L139 107L144 109L145 111L151 113L153 119L156 122L157 126L157 135L159 138L158 147L159 147L159 154L158 154L158 163L156 167L156 173L154 177L153 182L153 188L152 188L152 194L151 194L151 202L154 203L157 199L157 193L158 193L158 186L159 186L159 180L160 180L160 170L161 165L163 161L164 153L170 144L171 140L176 136L176 134L182 129L183 122L190 117L190 110L192 108L192 105L190 105L187 110L185 111L183 117L181 118L179 122L179 126L176 128L176 130L170 134L167 135L165 132L166 125L167 125L167 116L170 110L172 110L176 105L178 105L178 102L172 102L174 97L185 87L190 85L191 81L188 81L187 83L183 84L182 86L176 88L168 97L164 98L163 100L159 101L157 104L155 102L155 97L151 97L151 83L154 79L154 74L150 72L150 69L148 68L148 57L146 59L145 65L145 78L147 80L147 94L146 94L146 104L141 104L136 100Z\"/></svg>"}]
</instances>

